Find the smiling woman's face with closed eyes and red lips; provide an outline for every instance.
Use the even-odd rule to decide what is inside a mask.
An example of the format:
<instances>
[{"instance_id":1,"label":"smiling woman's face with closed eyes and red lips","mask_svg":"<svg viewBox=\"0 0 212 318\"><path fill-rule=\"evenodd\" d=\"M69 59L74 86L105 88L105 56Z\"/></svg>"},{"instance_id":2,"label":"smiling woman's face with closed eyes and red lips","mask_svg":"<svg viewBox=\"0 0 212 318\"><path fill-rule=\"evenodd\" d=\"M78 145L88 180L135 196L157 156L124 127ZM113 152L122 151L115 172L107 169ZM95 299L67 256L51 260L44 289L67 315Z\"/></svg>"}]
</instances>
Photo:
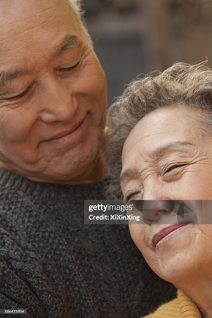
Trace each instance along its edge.
<instances>
[{"instance_id":1,"label":"smiling woman's face with closed eyes and red lips","mask_svg":"<svg viewBox=\"0 0 212 318\"><path fill-rule=\"evenodd\" d=\"M152 201L147 224L129 225L131 236L154 272L173 283L207 272L212 261L210 224L189 224L191 214L180 227L162 220L165 200L193 200L186 201L190 211L212 213L212 201L198 201L212 200L212 139L201 133L198 115L183 106L155 110L133 128L122 153L124 199L162 200Z\"/></svg>"}]
</instances>

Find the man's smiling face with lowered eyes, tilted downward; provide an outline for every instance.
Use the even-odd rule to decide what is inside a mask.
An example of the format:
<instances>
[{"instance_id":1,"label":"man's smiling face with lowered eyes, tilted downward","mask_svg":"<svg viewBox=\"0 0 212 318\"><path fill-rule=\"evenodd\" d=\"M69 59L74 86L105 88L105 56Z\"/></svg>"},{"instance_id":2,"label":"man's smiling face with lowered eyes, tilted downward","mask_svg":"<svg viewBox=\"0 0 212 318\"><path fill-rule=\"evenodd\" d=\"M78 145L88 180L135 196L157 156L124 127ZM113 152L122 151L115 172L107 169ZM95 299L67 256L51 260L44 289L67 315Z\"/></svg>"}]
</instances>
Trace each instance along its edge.
<instances>
[{"instance_id":1,"label":"man's smiling face with lowered eyes, tilted downward","mask_svg":"<svg viewBox=\"0 0 212 318\"><path fill-rule=\"evenodd\" d=\"M68 182L95 160L106 80L65 0L0 3L0 162Z\"/></svg>"}]
</instances>

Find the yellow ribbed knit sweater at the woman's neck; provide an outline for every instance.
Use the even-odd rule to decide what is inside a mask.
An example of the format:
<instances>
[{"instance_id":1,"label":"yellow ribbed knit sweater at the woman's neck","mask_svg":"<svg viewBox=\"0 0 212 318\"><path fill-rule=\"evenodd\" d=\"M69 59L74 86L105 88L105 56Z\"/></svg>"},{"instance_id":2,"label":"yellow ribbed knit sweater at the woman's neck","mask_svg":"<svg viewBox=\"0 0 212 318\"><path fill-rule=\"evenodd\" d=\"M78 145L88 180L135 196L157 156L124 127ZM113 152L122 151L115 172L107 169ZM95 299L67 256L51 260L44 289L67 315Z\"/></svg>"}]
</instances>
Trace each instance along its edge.
<instances>
[{"instance_id":1,"label":"yellow ribbed knit sweater at the woman's neck","mask_svg":"<svg viewBox=\"0 0 212 318\"><path fill-rule=\"evenodd\" d=\"M201 318L201 314L196 304L178 290L176 299L162 305L145 318Z\"/></svg>"}]
</instances>

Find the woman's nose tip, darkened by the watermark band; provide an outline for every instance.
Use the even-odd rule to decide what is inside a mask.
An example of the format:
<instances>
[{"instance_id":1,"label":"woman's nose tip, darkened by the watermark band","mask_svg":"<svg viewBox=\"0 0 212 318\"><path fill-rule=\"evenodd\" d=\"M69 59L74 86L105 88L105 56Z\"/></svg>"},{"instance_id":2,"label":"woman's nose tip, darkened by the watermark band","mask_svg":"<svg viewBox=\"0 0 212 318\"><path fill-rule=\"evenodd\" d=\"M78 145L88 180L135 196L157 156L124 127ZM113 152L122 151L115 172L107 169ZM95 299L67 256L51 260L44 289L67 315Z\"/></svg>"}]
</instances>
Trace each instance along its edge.
<instances>
[{"instance_id":1,"label":"woman's nose tip, darkened by the watermark band","mask_svg":"<svg viewBox=\"0 0 212 318\"><path fill-rule=\"evenodd\" d=\"M150 225L173 211L174 200L134 200L133 205L141 212L144 223Z\"/></svg>"}]
</instances>

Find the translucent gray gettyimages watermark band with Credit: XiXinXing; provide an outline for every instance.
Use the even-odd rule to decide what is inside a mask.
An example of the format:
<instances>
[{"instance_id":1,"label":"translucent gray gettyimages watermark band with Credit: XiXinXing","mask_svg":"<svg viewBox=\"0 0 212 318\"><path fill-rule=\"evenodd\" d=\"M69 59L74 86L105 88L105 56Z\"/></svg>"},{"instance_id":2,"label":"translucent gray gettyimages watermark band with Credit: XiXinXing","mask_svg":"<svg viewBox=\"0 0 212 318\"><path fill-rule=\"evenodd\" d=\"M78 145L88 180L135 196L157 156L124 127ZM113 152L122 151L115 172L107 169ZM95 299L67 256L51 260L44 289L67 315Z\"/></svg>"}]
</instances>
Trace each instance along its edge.
<instances>
[{"instance_id":1,"label":"translucent gray gettyimages watermark band with Credit: XiXinXing","mask_svg":"<svg viewBox=\"0 0 212 318\"><path fill-rule=\"evenodd\" d=\"M212 224L212 200L85 200L85 224Z\"/></svg>"}]
</instances>

